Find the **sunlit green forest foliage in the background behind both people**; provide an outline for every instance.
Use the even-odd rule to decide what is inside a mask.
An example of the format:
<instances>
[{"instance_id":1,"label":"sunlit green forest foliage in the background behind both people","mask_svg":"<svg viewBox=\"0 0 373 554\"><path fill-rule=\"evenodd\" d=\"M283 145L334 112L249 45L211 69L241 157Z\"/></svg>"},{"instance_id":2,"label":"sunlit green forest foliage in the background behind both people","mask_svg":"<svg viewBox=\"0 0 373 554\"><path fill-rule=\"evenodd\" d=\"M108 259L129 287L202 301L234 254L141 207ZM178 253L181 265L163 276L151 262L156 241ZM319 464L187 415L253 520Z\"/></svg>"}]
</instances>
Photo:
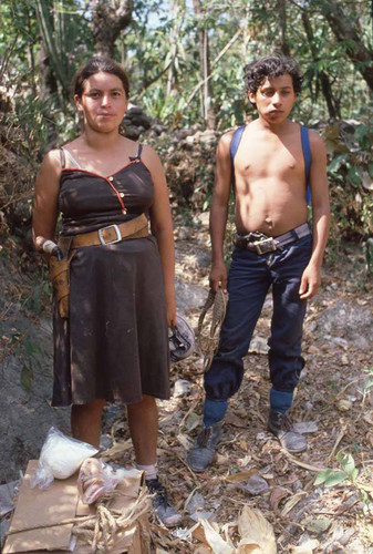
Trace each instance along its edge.
<instances>
[{"instance_id":1,"label":"sunlit green forest foliage in the background behind both people","mask_svg":"<svg viewBox=\"0 0 373 554\"><path fill-rule=\"evenodd\" d=\"M324 0L287 2L284 24L279 21L277 0L201 0L200 13L182 0L135 0L131 28L117 40L116 59L128 70L132 102L170 126L170 134L175 127L196 123L203 129L198 31L206 30L211 104L216 126L224 132L255 113L245 98L244 65L259 55L288 50L304 73L293 117L319 129L320 121L330 117L329 94L341 117L354 120L352 137L338 132L335 147L329 150L328 172L333 238L362 240L373 233L367 85L360 73L362 62L349 58L353 44L338 40L332 32L325 18L327 4ZM359 23L363 31L360 39L369 50L372 31L367 3L353 0L343 10L348 21ZM14 104L14 111L2 117L2 133L11 141L15 137L33 158L39 153L38 162L46 150L77 132L69 91L75 69L94 53L92 24L92 2L4 0L0 4L0 75ZM283 33L279 32L281 24ZM206 193L207 207L213 179L204 164L198 167L196 183L199 192ZM370 252L366 248L371 271Z\"/></svg>"}]
</instances>

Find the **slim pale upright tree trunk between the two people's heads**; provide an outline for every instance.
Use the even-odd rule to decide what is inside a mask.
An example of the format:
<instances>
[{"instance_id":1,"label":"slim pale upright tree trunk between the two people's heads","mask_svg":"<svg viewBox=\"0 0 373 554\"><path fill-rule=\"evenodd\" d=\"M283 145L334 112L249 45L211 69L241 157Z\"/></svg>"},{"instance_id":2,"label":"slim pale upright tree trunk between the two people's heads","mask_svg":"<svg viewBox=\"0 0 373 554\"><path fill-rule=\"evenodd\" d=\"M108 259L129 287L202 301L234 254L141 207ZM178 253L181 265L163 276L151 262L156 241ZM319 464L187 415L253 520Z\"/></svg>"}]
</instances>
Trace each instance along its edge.
<instances>
[{"instance_id":1,"label":"slim pale upright tree trunk between the two people's heads","mask_svg":"<svg viewBox=\"0 0 373 554\"><path fill-rule=\"evenodd\" d=\"M193 0L193 8L198 19L203 16L203 6L200 0ZM206 25L198 24L198 49L199 49L199 65L200 74L204 80L203 94L203 116L207 129L215 129L215 112L213 109L213 84L211 80L207 79L210 74L210 55L208 44L208 31Z\"/></svg>"}]
</instances>

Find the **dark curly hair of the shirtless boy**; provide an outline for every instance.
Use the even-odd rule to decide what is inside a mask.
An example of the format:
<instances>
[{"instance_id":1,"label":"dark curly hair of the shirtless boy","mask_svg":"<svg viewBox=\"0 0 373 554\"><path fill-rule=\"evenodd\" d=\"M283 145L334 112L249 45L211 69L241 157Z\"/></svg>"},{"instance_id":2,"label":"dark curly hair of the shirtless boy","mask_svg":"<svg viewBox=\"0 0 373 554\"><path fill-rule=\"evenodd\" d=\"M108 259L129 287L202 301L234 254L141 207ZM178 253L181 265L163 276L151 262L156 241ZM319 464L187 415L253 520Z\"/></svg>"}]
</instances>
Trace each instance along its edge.
<instances>
[{"instance_id":1,"label":"dark curly hair of the shirtless boy","mask_svg":"<svg viewBox=\"0 0 373 554\"><path fill-rule=\"evenodd\" d=\"M303 75L299 65L292 58L279 54L270 54L259 60L248 63L244 68L244 80L246 92L256 94L260 84L266 78L281 76L289 74L292 79L292 86L297 94L302 89Z\"/></svg>"}]
</instances>

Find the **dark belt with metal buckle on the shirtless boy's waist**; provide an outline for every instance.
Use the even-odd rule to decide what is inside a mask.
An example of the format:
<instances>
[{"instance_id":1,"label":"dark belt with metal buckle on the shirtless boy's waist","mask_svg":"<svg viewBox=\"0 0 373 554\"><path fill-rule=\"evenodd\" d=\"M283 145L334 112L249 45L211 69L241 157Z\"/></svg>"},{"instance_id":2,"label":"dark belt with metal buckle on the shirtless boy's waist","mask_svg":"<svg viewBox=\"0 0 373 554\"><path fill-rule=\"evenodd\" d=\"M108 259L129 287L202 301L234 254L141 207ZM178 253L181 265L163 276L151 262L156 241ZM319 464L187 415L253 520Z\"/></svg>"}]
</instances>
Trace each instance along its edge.
<instances>
[{"instance_id":1,"label":"dark belt with metal buckle on the shirtless boy's waist","mask_svg":"<svg viewBox=\"0 0 373 554\"><path fill-rule=\"evenodd\" d=\"M279 235L278 237L268 237L263 233L255 232L248 235L238 235L235 245L242 250L255 252L256 254L268 254L274 252L282 246L293 243L299 238L307 237L311 234L308 223L303 223L294 229Z\"/></svg>"}]
</instances>

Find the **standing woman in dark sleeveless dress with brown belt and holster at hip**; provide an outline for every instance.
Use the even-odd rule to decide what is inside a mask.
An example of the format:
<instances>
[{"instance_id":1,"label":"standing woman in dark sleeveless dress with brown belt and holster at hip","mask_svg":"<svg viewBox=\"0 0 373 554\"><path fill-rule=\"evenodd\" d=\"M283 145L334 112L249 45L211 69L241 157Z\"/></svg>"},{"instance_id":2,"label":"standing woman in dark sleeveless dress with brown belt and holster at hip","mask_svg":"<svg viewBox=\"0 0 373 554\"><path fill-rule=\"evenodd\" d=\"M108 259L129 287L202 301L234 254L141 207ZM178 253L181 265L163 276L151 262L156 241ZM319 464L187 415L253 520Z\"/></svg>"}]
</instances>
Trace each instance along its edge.
<instances>
[{"instance_id":1,"label":"standing woman in dark sleeveless dress with brown belt and holster at hip","mask_svg":"<svg viewBox=\"0 0 373 554\"><path fill-rule=\"evenodd\" d=\"M55 239L61 213L70 260L70 297L54 309L52 403L71 404L73 437L95 447L105 402L126 404L136 465L172 526L180 517L156 469L156 398L169 398L167 328L176 320L167 184L154 150L118 132L129 94L118 64L92 59L74 92L83 133L48 153L34 195L35 247Z\"/></svg>"}]
</instances>

